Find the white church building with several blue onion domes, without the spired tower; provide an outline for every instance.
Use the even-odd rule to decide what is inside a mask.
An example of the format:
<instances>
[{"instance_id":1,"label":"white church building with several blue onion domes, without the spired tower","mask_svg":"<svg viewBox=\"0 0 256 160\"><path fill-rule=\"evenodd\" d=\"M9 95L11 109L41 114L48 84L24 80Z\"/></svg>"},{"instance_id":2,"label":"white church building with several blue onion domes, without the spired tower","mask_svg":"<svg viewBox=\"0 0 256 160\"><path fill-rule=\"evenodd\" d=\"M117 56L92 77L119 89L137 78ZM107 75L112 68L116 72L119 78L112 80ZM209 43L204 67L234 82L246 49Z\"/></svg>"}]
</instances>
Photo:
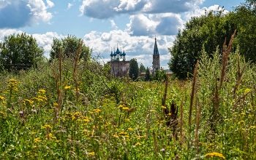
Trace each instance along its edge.
<instances>
[{"instance_id":1,"label":"white church building with several blue onion domes, without the spired tower","mask_svg":"<svg viewBox=\"0 0 256 160\"><path fill-rule=\"evenodd\" d=\"M118 49L118 46L114 53L111 49L110 62L108 62L108 64L110 65L110 73L113 76L127 76L127 72L129 71L129 60L126 61L125 56L125 52L121 52Z\"/></svg>"}]
</instances>

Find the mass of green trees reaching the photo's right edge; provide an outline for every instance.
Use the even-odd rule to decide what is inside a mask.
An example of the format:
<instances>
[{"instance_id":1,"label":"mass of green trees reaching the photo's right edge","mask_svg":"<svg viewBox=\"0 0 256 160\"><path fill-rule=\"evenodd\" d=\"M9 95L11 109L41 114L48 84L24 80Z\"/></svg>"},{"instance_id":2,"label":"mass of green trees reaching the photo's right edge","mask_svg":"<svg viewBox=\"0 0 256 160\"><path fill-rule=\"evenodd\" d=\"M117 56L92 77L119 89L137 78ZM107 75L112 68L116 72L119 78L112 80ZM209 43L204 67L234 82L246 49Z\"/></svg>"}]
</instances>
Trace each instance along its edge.
<instances>
[{"instance_id":1,"label":"mass of green trees reaching the photo's right edge","mask_svg":"<svg viewBox=\"0 0 256 160\"><path fill-rule=\"evenodd\" d=\"M232 52L239 51L246 61L256 63L256 0L246 0L224 14L224 9L206 12L192 17L179 30L173 47L168 48L171 58L168 63L179 79L191 77L195 63L205 51L210 57L214 52L222 55L223 44L230 41L236 30Z\"/></svg>"}]
</instances>

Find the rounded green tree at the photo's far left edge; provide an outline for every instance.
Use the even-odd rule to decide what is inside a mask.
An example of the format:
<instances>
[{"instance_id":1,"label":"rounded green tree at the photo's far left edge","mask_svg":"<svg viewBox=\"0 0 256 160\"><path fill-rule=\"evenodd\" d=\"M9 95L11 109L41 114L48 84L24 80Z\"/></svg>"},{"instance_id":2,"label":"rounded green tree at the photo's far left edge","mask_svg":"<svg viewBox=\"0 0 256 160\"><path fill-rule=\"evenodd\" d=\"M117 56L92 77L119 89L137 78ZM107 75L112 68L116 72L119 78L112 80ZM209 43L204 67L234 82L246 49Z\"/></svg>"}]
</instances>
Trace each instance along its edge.
<instances>
[{"instance_id":1,"label":"rounded green tree at the photo's far left edge","mask_svg":"<svg viewBox=\"0 0 256 160\"><path fill-rule=\"evenodd\" d=\"M43 54L44 49L38 46L37 40L26 33L4 36L4 41L0 42L0 63L7 71L37 67Z\"/></svg>"}]
</instances>

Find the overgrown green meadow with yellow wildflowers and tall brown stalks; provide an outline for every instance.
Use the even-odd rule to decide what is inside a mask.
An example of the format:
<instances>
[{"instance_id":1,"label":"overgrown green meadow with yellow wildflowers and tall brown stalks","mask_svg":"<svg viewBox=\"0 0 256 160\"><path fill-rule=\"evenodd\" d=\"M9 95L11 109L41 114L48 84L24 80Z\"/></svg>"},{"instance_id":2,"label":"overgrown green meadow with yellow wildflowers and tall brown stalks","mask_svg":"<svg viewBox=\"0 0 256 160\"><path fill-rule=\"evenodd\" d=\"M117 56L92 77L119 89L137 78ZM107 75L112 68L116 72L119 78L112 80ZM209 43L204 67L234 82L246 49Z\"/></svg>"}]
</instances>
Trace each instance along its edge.
<instances>
[{"instance_id":1,"label":"overgrown green meadow with yellow wildflowers and tall brown stalks","mask_svg":"<svg viewBox=\"0 0 256 160\"><path fill-rule=\"evenodd\" d=\"M194 79L167 83L94 60L3 72L0 159L256 159L256 68L223 59L203 54Z\"/></svg>"}]
</instances>

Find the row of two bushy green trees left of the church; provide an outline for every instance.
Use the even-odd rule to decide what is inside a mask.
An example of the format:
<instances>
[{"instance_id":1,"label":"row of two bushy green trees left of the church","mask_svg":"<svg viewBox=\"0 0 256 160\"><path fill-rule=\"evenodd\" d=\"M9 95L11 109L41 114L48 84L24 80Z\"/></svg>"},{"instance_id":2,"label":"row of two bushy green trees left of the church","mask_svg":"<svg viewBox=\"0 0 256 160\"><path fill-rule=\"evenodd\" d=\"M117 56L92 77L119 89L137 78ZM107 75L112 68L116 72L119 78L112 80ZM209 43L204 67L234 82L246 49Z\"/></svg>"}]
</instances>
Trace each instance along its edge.
<instances>
[{"instance_id":1,"label":"row of two bushy green trees left of the church","mask_svg":"<svg viewBox=\"0 0 256 160\"><path fill-rule=\"evenodd\" d=\"M80 49L80 59L85 61L91 58L91 49L84 44L83 39L76 36L67 36L64 39L53 39L50 49L49 62L59 58L60 52L63 57L75 60L75 55ZM0 42L0 70L20 71L29 68L37 68L38 63L45 60L44 49L39 47L37 40L26 33L4 36Z\"/></svg>"}]
</instances>

